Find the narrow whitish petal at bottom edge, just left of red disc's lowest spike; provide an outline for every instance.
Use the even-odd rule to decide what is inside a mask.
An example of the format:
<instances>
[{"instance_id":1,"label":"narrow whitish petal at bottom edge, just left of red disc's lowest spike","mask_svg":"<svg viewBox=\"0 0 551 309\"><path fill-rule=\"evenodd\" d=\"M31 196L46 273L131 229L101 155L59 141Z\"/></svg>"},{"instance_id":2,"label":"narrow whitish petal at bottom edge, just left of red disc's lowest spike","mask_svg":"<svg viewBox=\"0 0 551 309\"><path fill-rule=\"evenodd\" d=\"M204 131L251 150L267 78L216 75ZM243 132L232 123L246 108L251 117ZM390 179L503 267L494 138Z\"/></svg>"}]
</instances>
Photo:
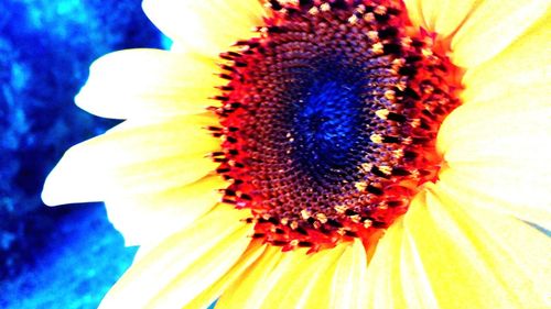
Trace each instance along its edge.
<instances>
[{"instance_id":1,"label":"narrow whitish petal at bottom edge, just left of red disc's lowest spike","mask_svg":"<svg viewBox=\"0 0 551 309\"><path fill-rule=\"evenodd\" d=\"M367 308L367 256L359 240L345 247L336 264L328 296L328 308ZM327 285L327 283L322 283Z\"/></svg>"}]
</instances>

